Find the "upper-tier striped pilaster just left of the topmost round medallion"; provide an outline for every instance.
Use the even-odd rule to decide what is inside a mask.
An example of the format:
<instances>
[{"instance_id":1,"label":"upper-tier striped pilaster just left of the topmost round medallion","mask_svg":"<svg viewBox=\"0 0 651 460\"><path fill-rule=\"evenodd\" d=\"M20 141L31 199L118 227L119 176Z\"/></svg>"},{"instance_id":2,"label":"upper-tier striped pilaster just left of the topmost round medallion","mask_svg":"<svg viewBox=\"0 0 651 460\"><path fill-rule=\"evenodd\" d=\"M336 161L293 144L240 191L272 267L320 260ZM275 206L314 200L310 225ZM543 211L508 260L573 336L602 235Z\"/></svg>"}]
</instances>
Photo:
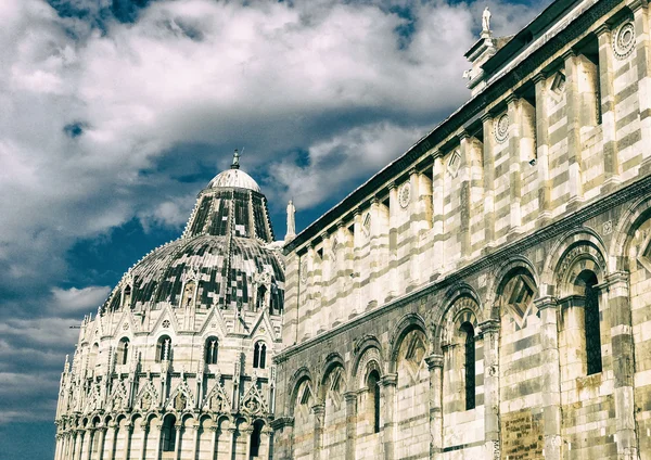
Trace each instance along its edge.
<instances>
[{"instance_id":1,"label":"upper-tier striped pilaster just left of the topmost round medallion","mask_svg":"<svg viewBox=\"0 0 651 460\"><path fill-rule=\"evenodd\" d=\"M620 183L617 128L615 126L615 91L613 88L612 34L607 24L597 30L599 39L599 93L601 97L601 129L603 132L603 190Z\"/></svg>"}]
</instances>

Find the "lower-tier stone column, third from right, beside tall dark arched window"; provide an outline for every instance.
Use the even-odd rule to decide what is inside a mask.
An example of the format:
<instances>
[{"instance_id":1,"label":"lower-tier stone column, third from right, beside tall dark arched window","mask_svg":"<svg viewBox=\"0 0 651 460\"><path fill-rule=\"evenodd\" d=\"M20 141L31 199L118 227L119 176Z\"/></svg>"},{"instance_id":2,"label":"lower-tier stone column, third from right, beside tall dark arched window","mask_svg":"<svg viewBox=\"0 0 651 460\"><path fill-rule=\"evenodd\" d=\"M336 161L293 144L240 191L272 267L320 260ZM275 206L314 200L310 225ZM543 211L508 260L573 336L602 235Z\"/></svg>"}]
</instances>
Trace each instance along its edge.
<instances>
[{"instance_id":1,"label":"lower-tier stone column, third from right, beside tall dark arched window","mask_svg":"<svg viewBox=\"0 0 651 460\"><path fill-rule=\"evenodd\" d=\"M480 324L484 336L484 442L487 459L499 460L499 320Z\"/></svg>"}]
</instances>

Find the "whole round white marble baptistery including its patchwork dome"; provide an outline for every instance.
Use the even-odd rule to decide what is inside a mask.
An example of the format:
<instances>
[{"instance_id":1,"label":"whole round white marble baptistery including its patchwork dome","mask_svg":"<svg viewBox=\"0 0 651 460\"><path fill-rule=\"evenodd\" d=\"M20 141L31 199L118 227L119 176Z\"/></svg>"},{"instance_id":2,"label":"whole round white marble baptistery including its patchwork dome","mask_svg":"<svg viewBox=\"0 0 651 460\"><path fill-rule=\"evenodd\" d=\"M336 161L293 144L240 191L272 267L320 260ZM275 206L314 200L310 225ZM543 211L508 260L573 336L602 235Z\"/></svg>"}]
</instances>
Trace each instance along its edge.
<instances>
[{"instance_id":1,"label":"whole round white marble baptistery including its patchwork dome","mask_svg":"<svg viewBox=\"0 0 651 460\"><path fill-rule=\"evenodd\" d=\"M235 152L182 235L84 319L58 459L269 457L284 270L267 200L239 167Z\"/></svg>"}]
</instances>

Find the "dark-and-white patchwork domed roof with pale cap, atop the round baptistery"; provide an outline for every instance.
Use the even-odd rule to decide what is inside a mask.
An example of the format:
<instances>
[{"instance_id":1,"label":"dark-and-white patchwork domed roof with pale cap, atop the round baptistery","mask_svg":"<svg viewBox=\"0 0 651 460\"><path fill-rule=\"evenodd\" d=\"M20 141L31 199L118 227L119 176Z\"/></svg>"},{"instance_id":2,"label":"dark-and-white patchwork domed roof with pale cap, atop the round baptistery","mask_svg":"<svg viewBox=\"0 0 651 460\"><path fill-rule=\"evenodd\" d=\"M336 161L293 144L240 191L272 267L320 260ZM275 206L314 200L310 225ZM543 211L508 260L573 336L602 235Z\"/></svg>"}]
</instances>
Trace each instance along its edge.
<instances>
[{"instance_id":1,"label":"dark-and-white patchwork domed roof with pale cap, atop the round baptistery","mask_svg":"<svg viewBox=\"0 0 651 460\"><path fill-rule=\"evenodd\" d=\"M246 307L260 280L270 286L275 305L282 305L284 271L280 253L269 246L273 230L267 200L239 167L235 151L231 169L199 194L182 237L152 251L125 273L106 302L110 310L125 306L125 297L136 310L180 306L188 282L195 283L199 308Z\"/></svg>"}]
</instances>

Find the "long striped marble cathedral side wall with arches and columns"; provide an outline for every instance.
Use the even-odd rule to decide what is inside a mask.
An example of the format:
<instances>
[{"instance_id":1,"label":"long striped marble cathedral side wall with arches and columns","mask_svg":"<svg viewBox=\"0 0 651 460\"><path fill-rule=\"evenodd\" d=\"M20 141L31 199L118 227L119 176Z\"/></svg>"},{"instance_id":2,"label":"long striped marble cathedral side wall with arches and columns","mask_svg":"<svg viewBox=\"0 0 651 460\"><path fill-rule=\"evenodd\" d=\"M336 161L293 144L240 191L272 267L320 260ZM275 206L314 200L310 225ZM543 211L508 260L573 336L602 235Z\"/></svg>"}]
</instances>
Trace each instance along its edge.
<instances>
[{"instance_id":1,"label":"long striped marble cathedral side wall with arches and columns","mask_svg":"<svg viewBox=\"0 0 651 460\"><path fill-rule=\"evenodd\" d=\"M651 459L648 3L489 22L471 99L284 247L275 458Z\"/></svg>"}]
</instances>

